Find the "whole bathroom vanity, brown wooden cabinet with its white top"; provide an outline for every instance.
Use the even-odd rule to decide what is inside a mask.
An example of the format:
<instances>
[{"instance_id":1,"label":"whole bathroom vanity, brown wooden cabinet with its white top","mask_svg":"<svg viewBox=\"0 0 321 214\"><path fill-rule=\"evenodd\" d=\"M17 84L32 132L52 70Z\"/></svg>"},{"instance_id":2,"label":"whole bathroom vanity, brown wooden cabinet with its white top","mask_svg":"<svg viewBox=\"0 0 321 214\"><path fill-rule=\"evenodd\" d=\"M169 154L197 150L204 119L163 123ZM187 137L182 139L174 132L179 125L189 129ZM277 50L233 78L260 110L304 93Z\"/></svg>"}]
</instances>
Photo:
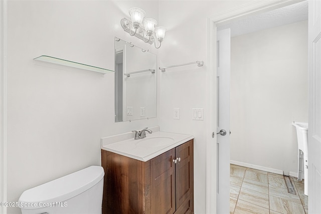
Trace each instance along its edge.
<instances>
[{"instance_id":1,"label":"whole bathroom vanity, brown wooden cabinet with its white top","mask_svg":"<svg viewBox=\"0 0 321 214\"><path fill-rule=\"evenodd\" d=\"M102 139L103 214L194 213L193 136L153 131L134 140L126 134L132 139Z\"/></svg>"}]
</instances>

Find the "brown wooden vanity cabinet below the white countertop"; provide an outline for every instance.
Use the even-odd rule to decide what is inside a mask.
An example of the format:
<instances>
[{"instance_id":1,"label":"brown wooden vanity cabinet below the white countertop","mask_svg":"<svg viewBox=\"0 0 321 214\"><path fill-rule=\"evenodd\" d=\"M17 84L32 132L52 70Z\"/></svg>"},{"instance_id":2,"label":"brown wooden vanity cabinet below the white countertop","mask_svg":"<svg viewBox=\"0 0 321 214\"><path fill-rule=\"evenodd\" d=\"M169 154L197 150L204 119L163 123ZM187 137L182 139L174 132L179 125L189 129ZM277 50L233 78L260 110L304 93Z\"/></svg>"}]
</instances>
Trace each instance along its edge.
<instances>
[{"instance_id":1,"label":"brown wooden vanity cabinet below the white countertop","mask_svg":"<svg viewBox=\"0 0 321 214\"><path fill-rule=\"evenodd\" d=\"M102 213L194 213L193 139L146 162L101 150Z\"/></svg>"}]
</instances>

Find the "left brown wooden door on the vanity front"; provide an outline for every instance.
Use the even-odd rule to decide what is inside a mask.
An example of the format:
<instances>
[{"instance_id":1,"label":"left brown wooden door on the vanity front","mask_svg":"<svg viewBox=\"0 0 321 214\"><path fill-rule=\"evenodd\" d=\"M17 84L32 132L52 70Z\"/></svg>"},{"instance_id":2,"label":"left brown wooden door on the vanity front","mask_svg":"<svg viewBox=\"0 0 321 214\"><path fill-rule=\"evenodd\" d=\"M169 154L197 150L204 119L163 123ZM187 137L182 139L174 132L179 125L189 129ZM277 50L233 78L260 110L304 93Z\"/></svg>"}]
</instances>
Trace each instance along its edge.
<instances>
[{"instance_id":1,"label":"left brown wooden door on the vanity front","mask_svg":"<svg viewBox=\"0 0 321 214\"><path fill-rule=\"evenodd\" d=\"M150 160L150 211L174 213L175 204L175 148Z\"/></svg>"}]
</instances>

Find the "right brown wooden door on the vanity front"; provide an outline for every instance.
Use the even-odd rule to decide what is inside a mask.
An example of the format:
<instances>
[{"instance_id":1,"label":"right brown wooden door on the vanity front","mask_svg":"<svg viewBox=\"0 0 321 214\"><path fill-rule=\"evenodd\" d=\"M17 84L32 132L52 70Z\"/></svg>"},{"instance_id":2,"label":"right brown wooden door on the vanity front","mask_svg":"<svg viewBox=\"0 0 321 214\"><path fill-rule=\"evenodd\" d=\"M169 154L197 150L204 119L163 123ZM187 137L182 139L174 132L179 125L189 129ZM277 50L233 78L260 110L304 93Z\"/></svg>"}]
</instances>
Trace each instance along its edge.
<instances>
[{"instance_id":1,"label":"right brown wooden door on the vanity front","mask_svg":"<svg viewBox=\"0 0 321 214\"><path fill-rule=\"evenodd\" d=\"M193 212L193 140L176 147L176 208ZM184 211L184 213L186 213Z\"/></svg>"}]
</instances>

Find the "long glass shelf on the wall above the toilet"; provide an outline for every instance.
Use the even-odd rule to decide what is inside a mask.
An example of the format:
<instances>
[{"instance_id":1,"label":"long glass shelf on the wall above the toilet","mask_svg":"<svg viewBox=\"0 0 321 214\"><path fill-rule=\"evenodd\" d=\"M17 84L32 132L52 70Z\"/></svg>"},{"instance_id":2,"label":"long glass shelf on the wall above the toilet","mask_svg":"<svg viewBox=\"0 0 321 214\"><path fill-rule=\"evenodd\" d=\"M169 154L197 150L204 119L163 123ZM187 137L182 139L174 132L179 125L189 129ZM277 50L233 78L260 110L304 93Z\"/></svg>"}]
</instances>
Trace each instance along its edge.
<instances>
[{"instance_id":1,"label":"long glass shelf on the wall above the toilet","mask_svg":"<svg viewBox=\"0 0 321 214\"><path fill-rule=\"evenodd\" d=\"M55 57L44 56L44 55L42 55L40 57L37 57L34 60L39 60L39 61L49 62L49 63L55 63L55 64L69 66L69 67L73 67L73 68L85 69L85 70L88 70L88 71L94 71L94 72L99 72L99 73L103 73L103 74L114 72L114 71L107 70L107 69L104 69L104 68L98 68L98 67L91 66L91 65L85 65L85 64L81 64L81 63L76 63L76 62L63 60L63 59L59 59L59 58L55 58Z\"/></svg>"}]
</instances>

